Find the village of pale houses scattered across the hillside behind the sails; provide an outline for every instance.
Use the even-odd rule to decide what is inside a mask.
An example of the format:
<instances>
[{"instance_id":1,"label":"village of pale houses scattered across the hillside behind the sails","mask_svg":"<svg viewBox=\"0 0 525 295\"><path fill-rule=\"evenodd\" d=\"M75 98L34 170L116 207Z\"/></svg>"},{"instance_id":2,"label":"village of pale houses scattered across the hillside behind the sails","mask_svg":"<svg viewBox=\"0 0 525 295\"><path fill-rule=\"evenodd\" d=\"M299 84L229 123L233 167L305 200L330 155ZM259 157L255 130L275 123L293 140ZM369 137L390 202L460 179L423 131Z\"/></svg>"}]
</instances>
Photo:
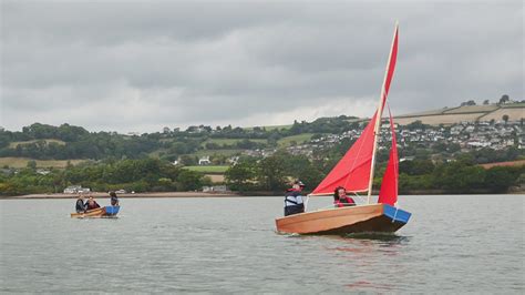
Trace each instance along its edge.
<instances>
[{"instance_id":1,"label":"village of pale houses scattered across the hillside behind the sails","mask_svg":"<svg viewBox=\"0 0 525 295\"><path fill-rule=\"evenodd\" d=\"M525 149L524 119L525 103L511 100L508 95L502 95L498 103L491 104L488 100L485 100L483 104L476 105L473 100L470 100L456 108L400 115L395 118L394 125L399 149L415 145L422 149L443 146L443 150L446 149L449 152L469 152L484 148L501 151L509 146ZM359 138L366 126L364 120L354 121L360 122L357 129L341 134L322 134L303 142L291 142L286 150L294 155L306 155L311 159L316 151L331 149L344 140L352 142ZM388 123L383 122L380 142L391 141ZM241 154L266 157L277 150L253 149ZM202 156L198 165L212 164L210 156L213 157L213 154ZM410 159L412 156L401 160ZM238 155L235 155L227 163L235 163L237 160Z\"/></svg>"}]
</instances>

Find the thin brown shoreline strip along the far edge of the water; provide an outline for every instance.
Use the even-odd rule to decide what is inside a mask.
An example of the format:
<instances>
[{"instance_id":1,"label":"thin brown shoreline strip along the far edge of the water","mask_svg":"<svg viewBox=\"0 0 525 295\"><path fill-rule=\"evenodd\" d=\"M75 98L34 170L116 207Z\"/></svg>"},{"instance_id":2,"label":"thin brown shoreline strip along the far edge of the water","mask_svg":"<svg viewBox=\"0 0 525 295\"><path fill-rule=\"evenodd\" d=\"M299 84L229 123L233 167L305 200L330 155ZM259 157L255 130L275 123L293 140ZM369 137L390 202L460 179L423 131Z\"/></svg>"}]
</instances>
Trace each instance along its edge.
<instances>
[{"instance_id":1,"label":"thin brown shoreline strip along the far edge of the water","mask_svg":"<svg viewBox=\"0 0 525 295\"><path fill-rule=\"evenodd\" d=\"M400 195L478 195L478 194L491 194L491 193L435 193L432 191L429 192L410 192L403 193ZM110 199L107 193L93 192L91 194L84 194L84 197L92 195L95 199ZM377 195L377 194L375 194ZM500 193L500 195L525 195L525 191L514 191L507 193ZM119 199L158 199L158 197L250 197L250 196L282 196L282 194L276 194L275 192L254 192L249 194L247 192L225 192L225 193L203 193L203 192L151 192L151 193L135 193L135 194L119 194ZM0 195L0 200L61 200L61 199L78 199L79 194L27 194L27 195L13 195L13 196L3 196Z\"/></svg>"}]
</instances>

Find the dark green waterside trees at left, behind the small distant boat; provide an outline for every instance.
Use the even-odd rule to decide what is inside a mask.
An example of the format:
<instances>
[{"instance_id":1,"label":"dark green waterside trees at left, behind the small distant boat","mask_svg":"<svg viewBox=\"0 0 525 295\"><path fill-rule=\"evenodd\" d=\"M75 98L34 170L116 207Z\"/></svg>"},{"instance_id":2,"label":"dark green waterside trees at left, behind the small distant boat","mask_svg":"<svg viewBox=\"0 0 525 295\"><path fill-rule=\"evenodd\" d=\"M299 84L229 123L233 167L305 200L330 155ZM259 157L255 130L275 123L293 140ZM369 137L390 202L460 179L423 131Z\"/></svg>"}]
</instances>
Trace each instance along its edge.
<instances>
[{"instance_id":1,"label":"dark green waterside trees at left, behind the small distant boat","mask_svg":"<svg viewBox=\"0 0 525 295\"><path fill-rule=\"evenodd\" d=\"M34 164L11 174L0 174L0 195L61 193L69 185L82 185L97 192L121 190L134 192L195 191L210 180L203 174L174 166L167 161L105 160L52 169L41 174Z\"/></svg>"}]
</instances>

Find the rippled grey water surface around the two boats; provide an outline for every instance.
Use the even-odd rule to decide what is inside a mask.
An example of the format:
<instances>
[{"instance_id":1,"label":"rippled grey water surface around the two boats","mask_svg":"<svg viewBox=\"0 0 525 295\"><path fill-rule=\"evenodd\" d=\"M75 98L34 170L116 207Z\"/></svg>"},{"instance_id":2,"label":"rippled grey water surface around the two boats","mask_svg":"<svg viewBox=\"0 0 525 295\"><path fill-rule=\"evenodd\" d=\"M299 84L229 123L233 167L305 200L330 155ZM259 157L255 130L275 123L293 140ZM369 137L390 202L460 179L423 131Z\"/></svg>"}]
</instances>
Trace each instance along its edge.
<instances>
[{"instance_id":1,"label":"rippled grey water surface around the two boats","mask_svg":"<svg viewBox=\"0 0 525 295\"><path fill-rule=\"evenodd\" d=\"M354 238L276 234L280 197L123 199L116 220L0 201L0 292L523 294L523 196L401 203L395 236Z\"/></svg>"}]
</instances>

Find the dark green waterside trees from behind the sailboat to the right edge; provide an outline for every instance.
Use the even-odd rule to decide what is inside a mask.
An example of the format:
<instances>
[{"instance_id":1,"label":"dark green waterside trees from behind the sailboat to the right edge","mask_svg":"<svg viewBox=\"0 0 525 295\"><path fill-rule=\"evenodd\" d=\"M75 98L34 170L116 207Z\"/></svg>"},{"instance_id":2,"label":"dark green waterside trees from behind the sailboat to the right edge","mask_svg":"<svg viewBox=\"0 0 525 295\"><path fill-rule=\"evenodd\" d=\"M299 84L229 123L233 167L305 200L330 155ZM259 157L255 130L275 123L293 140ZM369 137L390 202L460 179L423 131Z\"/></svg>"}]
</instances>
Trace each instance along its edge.
<instances>
[{"instance_id":1,"label":"dark green waterside trees from behind the sailboat to the right edge","mask_svg":"<svg viewBox=\"0 0 525 295\"><path fill-rule=\"evenodd\" d=\"M300 179L311 191L329 173L337 160L308 161L303 156L277 153L260 161L244 159L226 171L233 190L282 191L290 180ZM378 165L374 187L379 189L385 163ZM451 162L431 160L404 161L399 165L400 193L436 191L443 193L505 193L512 186L525 185L525 165L494 166L488 170L466 154Z\"/></svg>"}]
</instances>

